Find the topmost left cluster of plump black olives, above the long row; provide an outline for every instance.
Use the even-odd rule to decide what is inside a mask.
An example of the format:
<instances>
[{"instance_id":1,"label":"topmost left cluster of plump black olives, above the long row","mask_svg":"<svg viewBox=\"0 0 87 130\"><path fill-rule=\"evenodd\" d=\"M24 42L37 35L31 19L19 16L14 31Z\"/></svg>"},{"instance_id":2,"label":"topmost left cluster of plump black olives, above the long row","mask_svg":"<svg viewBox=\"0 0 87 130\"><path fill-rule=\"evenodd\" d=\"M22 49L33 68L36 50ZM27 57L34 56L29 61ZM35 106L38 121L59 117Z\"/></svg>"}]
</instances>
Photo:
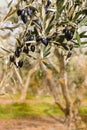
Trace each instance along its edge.
<instances>
[{"instance_id":1,"label":"topmost left cluster of plump black olives, above the long row","mask_svg":"<svg viewBox=\"0 0 87 130\"><path fill-rule=\"evenodd\" d=\"M23 23L27 23L28 16L32 16L34 14L35 10L31 8L25 8L25 9L18 9L17 10L17 15L21 16L21 20Z\"/></svg>"}]
</instances>

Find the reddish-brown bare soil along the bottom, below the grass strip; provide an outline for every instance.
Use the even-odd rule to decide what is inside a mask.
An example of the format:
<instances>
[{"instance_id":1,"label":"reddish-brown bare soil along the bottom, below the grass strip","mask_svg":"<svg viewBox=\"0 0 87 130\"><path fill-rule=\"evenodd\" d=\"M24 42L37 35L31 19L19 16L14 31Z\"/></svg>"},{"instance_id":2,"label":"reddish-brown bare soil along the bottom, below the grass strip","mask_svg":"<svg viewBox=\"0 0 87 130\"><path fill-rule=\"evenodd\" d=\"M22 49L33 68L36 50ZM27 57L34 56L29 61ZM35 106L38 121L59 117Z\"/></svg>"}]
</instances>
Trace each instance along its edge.
<instances>
[{"instance_id":1,"label":"reddish-brown bare soil along the bottom, below the grass strip","mask_svg":"<svg viewBox=\"0 0 87 130\"><path fill-rule=\"evenodd\" d=\"M0 130L67 130L60 117L1 119Z\"/></svg>"}]
</instances>

